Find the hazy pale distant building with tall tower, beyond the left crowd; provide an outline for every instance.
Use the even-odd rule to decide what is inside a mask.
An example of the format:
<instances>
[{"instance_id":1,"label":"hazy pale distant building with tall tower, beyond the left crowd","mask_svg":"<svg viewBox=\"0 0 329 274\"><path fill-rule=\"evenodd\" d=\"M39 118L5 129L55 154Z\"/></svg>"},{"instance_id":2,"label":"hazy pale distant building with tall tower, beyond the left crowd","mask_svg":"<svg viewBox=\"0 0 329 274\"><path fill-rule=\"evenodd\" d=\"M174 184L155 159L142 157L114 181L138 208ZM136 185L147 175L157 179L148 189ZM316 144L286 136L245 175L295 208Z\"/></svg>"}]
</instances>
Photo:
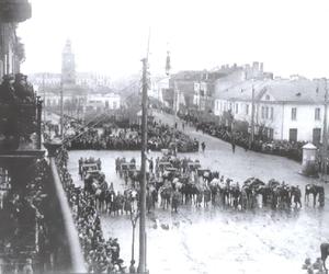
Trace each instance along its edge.
<instances>
[{"instance_id":1,"label":"hazy pale distant building with tall tower, beyond the left crowd","mask_svg":"<svg viewBox=\"0 0 329 274\"><path fill-rule=\"evenodd\" d=\"M83 76L79 78L79 76ZM88 82L88 77L91 81ZM121 98L109 87L94 82L95 78L89 73L76 72L75 54L70 41L61 55L61 73L35 73L31 76L38 93L45 100L45 106L59 110L60 94L65 113L82 115L86 111L117 110L121 106ZM104 79L103 79L104 80Z\"/></svg>"}]
</instances>

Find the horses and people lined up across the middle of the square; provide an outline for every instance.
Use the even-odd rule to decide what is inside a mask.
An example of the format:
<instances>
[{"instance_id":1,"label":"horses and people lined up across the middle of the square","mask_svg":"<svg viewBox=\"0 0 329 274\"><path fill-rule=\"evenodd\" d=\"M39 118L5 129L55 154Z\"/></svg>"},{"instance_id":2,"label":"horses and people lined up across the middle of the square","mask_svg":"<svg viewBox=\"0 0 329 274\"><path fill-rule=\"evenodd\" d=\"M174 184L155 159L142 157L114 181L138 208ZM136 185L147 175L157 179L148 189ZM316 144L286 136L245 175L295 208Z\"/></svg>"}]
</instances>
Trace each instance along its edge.
<instances>
[{"instance_id":1,"label":"horses and people lined up across the middle of the square","mask_svg":"<svg viewBox=\"0 0 329 274\"><path fill-rule=\"evenodd\" d=\"M104 178L94 176L84 180L86 185L93 182L95 187L89 187L94 196L99 210L110 215L131 214L133 203L139 198L140 171L136 169L133 158L117 158L116 173L125 182L123 193L115 192L113 183L109 184ZM302 208L302 190L298 185L291 185L277 180L262 182L257 178L249 178L243 182L234 182L230 178L220 175L218 171L203 169L198 160L162 156L147 160L147 209L162 207L173 212L182 204L195 207L219 206L236 210L248 210L259 207L272 209ZM324 207L325 190L317 184L305 187L305 206ZM137 203L138 204L138 203Z\"/></svg>"}]
</instances>

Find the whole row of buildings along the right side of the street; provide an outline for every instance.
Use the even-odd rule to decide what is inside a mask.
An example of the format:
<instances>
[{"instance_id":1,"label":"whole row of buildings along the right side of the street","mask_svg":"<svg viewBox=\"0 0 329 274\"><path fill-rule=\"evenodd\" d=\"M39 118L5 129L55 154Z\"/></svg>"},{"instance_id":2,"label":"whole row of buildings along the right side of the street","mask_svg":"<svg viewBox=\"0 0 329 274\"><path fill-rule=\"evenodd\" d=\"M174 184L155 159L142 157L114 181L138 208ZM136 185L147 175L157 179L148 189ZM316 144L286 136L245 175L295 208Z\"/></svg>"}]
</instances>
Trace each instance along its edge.
<instances>
[{"instance_id":1,"label":"whole row of buildings along the right side of the street","mask_svg":"<svg viewBox=\"0 0 329 274\"><path fill-rule=\"evenodd\" d=\"M219 123L249 133L253 102L257 135L265 139L322 141L325 81L298 76L273 79L260 62L154 79L150 95L173 110L215 115Z\"/></svg>"}]
</instances>

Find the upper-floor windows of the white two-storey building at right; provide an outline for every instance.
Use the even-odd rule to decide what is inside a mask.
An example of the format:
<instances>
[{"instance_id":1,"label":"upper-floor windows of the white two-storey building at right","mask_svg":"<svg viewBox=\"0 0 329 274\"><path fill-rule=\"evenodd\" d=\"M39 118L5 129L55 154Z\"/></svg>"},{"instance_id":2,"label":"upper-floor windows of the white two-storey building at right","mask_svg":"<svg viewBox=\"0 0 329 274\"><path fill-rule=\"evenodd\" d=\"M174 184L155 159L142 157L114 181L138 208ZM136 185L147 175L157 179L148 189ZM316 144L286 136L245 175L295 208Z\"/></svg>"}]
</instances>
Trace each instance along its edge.
<instances>
[{"instance_id":1,"label":"upper-floor windows of the white two-storey building at right","mask_svg":"<svg viewBox=\"0 0 329 274\"><path fill-rule=\"evenodd\" d=\"M228 110L231 111L232 107L234 107L234 103L229 103ZM217 110L219 109L219 102L218 101L216 102L216 109ZM250 113L249 109L250 109L249 104L245 104L245 114L246 115L249 115L249 113ZM222 112L223 111L227 111L227 103L220 102L220 111ZM235 113L236 114L239 113L239 104L238 103L235 104ZM269 119L269 118L273 119L273 117L274 117L274 107L273 106L271 106L271 107L269 107L269 106L262 106L262 109L261 109L261 117L265 118L265 119ZM297 119L297 107L292 107L292 115L291 115L291 117L292 117L292 121L296 121ZM321 110L320 110L320 107L316 107L315 109L315 119L316 121L321 119Z\"/></svg>"}]
</instances>

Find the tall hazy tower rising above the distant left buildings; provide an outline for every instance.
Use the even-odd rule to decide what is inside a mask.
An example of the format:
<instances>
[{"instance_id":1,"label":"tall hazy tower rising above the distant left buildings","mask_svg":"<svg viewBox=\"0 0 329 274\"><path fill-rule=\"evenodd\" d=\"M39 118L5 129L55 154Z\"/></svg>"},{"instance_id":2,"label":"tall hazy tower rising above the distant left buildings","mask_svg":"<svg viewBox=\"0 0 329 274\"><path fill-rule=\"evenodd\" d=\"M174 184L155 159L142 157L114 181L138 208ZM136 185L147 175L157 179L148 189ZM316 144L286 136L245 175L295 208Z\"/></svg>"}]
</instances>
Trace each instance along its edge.
<instances>
[{"instance_id":1,"label":"tall hazy tower rising above the distant left buildings","mask_svg":"<svg viewBox=\"0 0 329 274\"><path fill-rule=\"evenodd\" d=\"M76 84L76 61L71 42L68 39L61 53L61 81L64 84Z\"/></svg>"}]
</instances>

